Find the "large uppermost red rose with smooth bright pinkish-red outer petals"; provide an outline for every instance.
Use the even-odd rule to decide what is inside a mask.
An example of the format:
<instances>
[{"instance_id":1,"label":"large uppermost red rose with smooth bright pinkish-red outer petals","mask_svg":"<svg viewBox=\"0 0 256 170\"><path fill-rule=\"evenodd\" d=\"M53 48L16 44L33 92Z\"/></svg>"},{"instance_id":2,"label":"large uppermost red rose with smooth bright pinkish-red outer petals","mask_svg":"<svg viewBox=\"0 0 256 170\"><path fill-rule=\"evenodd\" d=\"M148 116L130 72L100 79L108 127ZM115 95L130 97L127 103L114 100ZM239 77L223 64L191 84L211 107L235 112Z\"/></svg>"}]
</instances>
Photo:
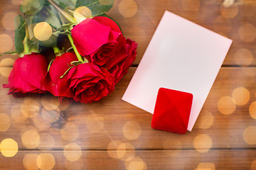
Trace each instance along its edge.
<instances>
[{"instance_id":1,"label":"large uppermost red rose with smooth bright pinkish-red outer petals","mask_svg":"<svg viewBox=\"0 0 256 170\"><path fill-rule=\"evenodd\" d=\"M127 57L117 23L104 16L87 18L71 30L78 52L89 62L110 69Z\"/></svg>"}]
</instances>

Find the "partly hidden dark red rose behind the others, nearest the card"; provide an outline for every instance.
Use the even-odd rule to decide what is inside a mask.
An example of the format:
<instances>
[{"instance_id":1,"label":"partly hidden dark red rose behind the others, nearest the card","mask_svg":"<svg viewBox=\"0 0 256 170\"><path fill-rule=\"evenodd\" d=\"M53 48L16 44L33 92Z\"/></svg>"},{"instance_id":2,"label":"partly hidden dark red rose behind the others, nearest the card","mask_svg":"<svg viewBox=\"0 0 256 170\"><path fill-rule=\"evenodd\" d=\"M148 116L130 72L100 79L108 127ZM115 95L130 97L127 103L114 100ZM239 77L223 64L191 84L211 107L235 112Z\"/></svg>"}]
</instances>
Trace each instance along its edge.
<instances>
[{"instance_id":1,"label":"partly hidden dark red rose behind the others, nearest the card","mask_svg":"<svg viewBox=\"0 0 256 170\"><path fill-rule=\"evenodd\" d=\"M127 51L127 57L124 58L121 62L118 64L115 64L114 67L112 67L109 71L111 74L114 75L114 84L117 84L117 82L124 76L124 74L127 74L129 67L132 66L132 62L134 62L137 52L137 43L135 41L126 40L126 51Z\"/></svg>"}]
</instances>

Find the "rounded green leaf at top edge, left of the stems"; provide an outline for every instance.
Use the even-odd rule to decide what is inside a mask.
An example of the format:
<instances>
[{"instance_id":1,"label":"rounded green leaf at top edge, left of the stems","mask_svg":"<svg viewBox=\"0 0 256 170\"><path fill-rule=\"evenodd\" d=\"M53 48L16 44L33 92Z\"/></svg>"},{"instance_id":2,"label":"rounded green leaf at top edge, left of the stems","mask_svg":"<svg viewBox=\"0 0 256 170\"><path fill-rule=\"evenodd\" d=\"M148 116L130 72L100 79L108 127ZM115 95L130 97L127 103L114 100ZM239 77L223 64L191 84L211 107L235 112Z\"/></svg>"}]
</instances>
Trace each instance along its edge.
<instances>
[{"instance_id":1,"label":"rounded green leaf at top edge, left of the stems","mask_svg":"<svg viewBox=\"0 0 256 170\"><path fill-rule=\"evenodd\" d=\"M31 16L36 15L43 8L46 0L24 0L20 10L22 13Z\"/></svg>"}]
</instances>

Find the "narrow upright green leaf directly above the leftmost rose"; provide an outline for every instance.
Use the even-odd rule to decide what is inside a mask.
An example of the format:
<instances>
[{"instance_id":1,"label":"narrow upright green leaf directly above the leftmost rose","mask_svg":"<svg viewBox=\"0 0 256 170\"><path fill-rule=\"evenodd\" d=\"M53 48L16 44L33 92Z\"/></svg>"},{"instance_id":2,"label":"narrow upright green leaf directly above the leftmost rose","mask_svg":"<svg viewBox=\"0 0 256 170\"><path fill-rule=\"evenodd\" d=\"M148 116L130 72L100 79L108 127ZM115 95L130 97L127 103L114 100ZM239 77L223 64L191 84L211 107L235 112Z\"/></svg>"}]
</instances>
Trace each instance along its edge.
<instances>
[{"instance_id":1,"label":"narrow upright green leaf directly above the leftmost rose","mask_svg":"<svg viewBox=\"0 0 256 170\"><path fill-rule=\"evenodd\" d=\"M17 53L21 53L24 50L23 40L26 35L25 30L25 20L23 16L18 15L14 19L14 27L15 27L15 50Z\"/></svg>"}]
</instances>

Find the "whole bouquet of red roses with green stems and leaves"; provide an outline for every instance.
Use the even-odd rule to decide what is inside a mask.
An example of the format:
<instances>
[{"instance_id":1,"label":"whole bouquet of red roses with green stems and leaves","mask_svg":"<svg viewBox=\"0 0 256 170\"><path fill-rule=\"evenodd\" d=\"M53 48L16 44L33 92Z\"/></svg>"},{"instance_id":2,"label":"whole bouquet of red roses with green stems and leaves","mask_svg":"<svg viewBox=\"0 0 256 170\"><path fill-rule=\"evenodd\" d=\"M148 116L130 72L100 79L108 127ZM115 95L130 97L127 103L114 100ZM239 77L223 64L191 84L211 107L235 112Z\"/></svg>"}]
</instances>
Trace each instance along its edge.
<instances>
[{"instance_id":1,"label":"whole bouquet of red roses with green stems and leaves","mask_svg":"<svg viewBox=\"0 0 256 170\"><path fill-rule=\"evenodd\" d=\"M73 98L82 103L99 101L114 91L136 57L137 43L124 38L106 15L114 1L28 0L15 18L14 62L9 76L13 96L44 94ZM60 35L71 47L59 49ZM55 58L40 54L52 47ZM49 61L49 62L48 62Z\"/></svg>"}]
</instances>

